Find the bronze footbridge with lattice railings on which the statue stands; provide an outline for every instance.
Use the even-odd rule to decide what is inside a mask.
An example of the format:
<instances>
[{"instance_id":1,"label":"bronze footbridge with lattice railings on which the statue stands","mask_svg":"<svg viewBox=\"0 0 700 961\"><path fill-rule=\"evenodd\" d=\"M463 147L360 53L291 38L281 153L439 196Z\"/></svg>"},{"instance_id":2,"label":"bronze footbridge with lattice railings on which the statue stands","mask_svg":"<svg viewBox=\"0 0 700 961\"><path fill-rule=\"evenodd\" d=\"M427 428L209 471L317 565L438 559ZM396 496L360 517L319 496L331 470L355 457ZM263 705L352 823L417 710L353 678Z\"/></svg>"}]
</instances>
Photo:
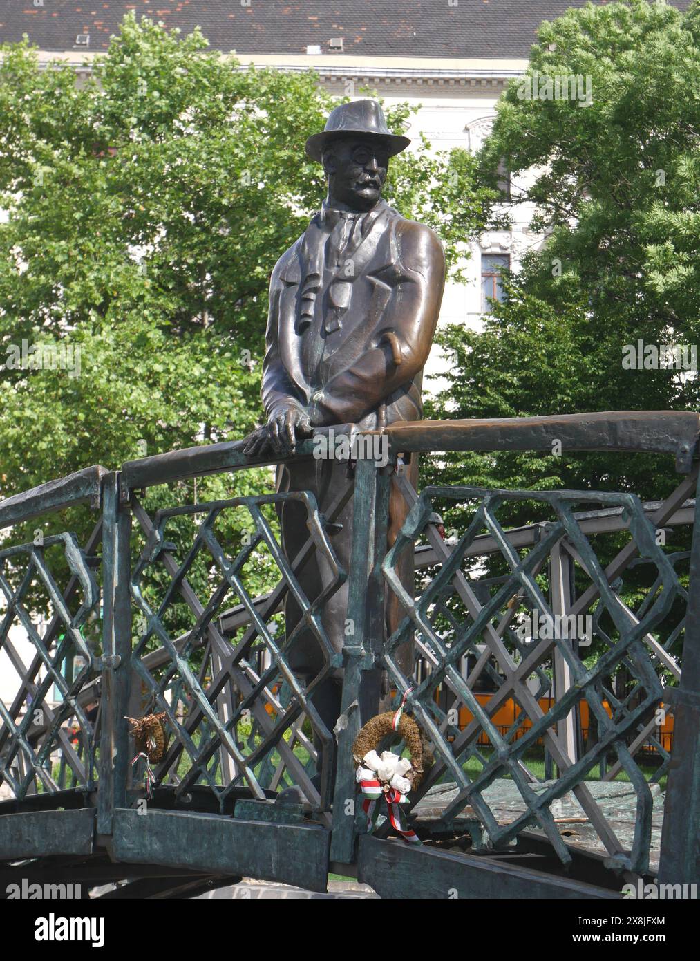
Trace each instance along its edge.
<instances>
[{"instance_id":1,"label":"bronze footbridge with lattice railings on which the statue stands","mask_svg":"<svg viewBox=\"0 0 700 961\"><path fill-rule=\"evenodd\" d=\"M0 891L26 877L120 882L111 898L192 897L243 876L325 891L334 872L384 898L595 899L640 878L697 882L699 432L689 412L401 424L381 433L388 462L356 459L354 485L326 516L310 494L179 503L186 487L174 481L271 463L243 456L242 442L88 467L4 501L0 670L16 690L0 702ZM644 504L592 490L417 494L403 471L420 452L548 454L554 439L565 454L674 456L680 483ZM313 450L306 441L297 456ZM173 505L149 513L146 491L167 484ZM392 484L410 511L389 545ZM352 496L343 571L332 531ZM287 558L275 508L290 497L308 539ZM66 508L61 524L94 515L86 543L70 530L30 543L13 534ZM532 522L509 525L523 509ZM234 511L249 534L231 550L219 525ZM457 516L443 536L441 519L449 530ZM669 529L687 550L664 548ZM319 598L297 578L312 552L334 572ZM398 576L406 552L414 596ZM253 570L270 582L262 595L249 589ZM338 654L320 612L346 579L354 629ZM325 651L308 686L289 667L287 596ZM403 620L382 643L392 599ZM590 615L592 636L525 636L533 611ZM406 642L410 678L396 655ZM314 691L338 667L342 715L328 730ZM412 688L407 710L435 755L406 805L420 846L386 821L368 834L357 802L351 745L376 712L379 670L395 703ZM148 712L164 712L167 734L150 800L126 720ZM659 734L669 724L672 752ZM280 803L290 785L299 803Z\"/></svg>"}]
</instances>

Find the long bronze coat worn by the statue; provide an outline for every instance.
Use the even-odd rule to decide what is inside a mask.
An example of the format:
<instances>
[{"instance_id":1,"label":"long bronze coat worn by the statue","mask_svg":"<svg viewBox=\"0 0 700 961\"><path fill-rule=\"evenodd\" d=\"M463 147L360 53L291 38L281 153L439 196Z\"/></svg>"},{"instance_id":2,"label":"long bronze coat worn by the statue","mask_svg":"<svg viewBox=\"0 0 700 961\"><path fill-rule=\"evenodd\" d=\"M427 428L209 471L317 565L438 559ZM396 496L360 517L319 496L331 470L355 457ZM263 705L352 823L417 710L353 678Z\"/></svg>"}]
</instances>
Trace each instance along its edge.
<instances>
[{"instance_id":1,"label":"long bronze coat worn by the statue","mask_svg":"<svg viewBox=\"0 0 700 961\"><path fill-rule=\"evenodd\" d=\"M443 246L429 228L379 201L369 213L353 216L350 246L338 259L328 225L337 217L337 211L325 206L273 271L261 390L265 410L270 417L280 409L311 407L317 424L356 424L365 430L419 420L422 368L445 285ZM417 466L414 457L409 475L414 485ZM278 490L312 491L322 514L347 483L348 465L339 461L300 460L278 468ZM395 491L390 543L404 517L405 502ZM348 571L351 500L337 522L343 528L332 534L331 543ZM302 507L285 505L281 525L285 553L293 556L308 534ZM329 577L316 555L305 564L300 581L309 600ZM410 579L412 590L412 564L402 577ZM346 584L323 616L338 652L345 639L347 602ZM390 605L389 628L396 627L397 615L396 604L393 613ZM288 632L298 617L297 605L288 600ZM295 644L293 664L313 675L321 667L320 656L309 636Z\"/></svg>"}]
</instances>

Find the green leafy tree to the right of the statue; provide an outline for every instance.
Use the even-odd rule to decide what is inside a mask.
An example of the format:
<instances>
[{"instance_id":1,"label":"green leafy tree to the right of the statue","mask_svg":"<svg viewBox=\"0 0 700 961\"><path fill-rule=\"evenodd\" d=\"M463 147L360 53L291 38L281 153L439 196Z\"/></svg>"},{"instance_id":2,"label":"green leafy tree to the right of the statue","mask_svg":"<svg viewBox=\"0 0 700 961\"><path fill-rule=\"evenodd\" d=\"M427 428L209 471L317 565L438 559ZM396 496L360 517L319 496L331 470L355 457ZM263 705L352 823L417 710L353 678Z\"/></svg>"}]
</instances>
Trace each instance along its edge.
<instances>
[{"instance_id":1,"label":"green leafy tree to the right of the statue","mask_svg":"<svg viewBox=\"0 0 700 961\"><path fill-rule=\"evenodd\" d=\"M700 4L588 4L543 23L527 77L497 104L479 158L495 184L505 159L534 172L512 205L532 204L546 235L506 281L483 330L442 335L457 363L433 416L513 417L588 410L698 409L698 381L622 364L625 345L700 337ZM546 78L591 79L591 104L546 99ZM531 89L531 87L530 87ZM523 95L524 94L524 95ZM502 209L501 209L502 212ZM466 457L449 479L523 487L624 489L658 498L668 458Z\"/></svg>"}]
</instances>

